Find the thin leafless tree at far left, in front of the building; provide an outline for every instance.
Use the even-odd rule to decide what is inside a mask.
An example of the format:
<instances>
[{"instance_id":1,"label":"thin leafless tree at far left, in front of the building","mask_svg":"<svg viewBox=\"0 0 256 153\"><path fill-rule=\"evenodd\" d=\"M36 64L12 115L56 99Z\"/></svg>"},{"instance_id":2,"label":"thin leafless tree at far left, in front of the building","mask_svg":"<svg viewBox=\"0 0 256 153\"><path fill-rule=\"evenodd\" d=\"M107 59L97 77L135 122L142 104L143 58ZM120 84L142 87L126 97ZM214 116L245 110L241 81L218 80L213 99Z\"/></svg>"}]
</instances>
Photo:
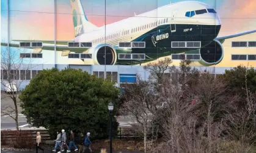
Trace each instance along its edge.
<instances>
[{"instance_id":1,"label":"thin leafless tree at far left, in front of the building","mask_svg":"<svg viewBox=\"0 0 256 153\"><path fill-rule=\"evenodd\" d=\"M25 80L27 74L31 74L31 59L24 59L20 57L20 49L8 49L1 50L1 86L7 91L6 94L1 94L1 99L12 99L13 104L1 106L1 115L8 115L15 121L16 130L18 127L18 105L20 99L18 99L18 93L21 89L21 85ZM22 69L20 71L20 69ZM23 75L20 75L20 72ZM21 76L21 78L20 78ZM29 76L30 78L30 76Z\"/></svg>"}]
</instances>

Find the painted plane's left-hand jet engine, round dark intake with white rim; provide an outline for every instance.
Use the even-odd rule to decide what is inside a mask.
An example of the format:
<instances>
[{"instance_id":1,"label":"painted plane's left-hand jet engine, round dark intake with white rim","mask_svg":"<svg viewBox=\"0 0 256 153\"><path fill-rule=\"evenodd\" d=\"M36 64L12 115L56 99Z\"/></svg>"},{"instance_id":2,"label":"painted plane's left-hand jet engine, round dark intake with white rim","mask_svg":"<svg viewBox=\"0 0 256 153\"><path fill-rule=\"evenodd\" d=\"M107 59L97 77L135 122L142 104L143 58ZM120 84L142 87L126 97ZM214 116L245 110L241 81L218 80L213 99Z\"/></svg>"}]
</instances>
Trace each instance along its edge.
<instances>
[{"instance_id":1,"label":"painted plane's left-hand jet engine, round dark intake with white rim","mask_svg":"<svg viewBox=\"0 0 256 153\"><path fill-rule=\"evenodd\" d=\"M105 59L106 65L114 65L117 62L117 52L109 44L99 44L95 48L90 48L87 53L92 54L92 60L95 65L105 65Z\"/></svg>"}]
</instances>

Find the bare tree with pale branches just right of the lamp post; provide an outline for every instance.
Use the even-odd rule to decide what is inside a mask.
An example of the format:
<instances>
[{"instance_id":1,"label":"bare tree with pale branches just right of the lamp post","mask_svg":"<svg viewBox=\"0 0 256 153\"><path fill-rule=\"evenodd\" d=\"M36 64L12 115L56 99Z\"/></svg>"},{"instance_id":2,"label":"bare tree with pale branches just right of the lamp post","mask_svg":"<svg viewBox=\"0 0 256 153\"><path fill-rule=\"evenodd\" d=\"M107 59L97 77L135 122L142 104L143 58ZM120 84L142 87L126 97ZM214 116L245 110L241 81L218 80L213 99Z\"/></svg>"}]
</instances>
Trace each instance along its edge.
<instances>
[{"instance_id":1,"label":"bare tree with pale branches just right of the lamp post","mask_svg":"<svg viewBox=\"0 0 256 153\"><path fill-rule=\"evenodd\" d=\"M136 124L137 132L144 137L144 152L147 152L147 137L152 128L152 118L156 115L157 96L154 93L150 82L137 78L137 84L124 85L125 91L122 94L125 99L120 113L132 116Z\"/></svg>"}]
</instances>

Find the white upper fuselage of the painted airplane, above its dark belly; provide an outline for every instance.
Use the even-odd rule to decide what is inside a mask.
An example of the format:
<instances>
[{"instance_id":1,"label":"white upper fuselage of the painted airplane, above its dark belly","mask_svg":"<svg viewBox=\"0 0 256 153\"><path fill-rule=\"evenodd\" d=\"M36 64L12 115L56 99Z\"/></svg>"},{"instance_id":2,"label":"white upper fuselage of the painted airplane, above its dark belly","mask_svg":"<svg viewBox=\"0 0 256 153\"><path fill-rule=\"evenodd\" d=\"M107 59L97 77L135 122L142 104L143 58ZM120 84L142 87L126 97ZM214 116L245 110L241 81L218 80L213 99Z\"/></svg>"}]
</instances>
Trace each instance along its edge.
<instances>
[{"instance_id":1,"label":"white upper fuselage of the painted airplane, above its dark belly","mask_svg":"<svg viewBox=\"0 0 256 153\"><path fill-rule=\"evenodd\" d=\"M98 27L96 30L79 35L73 41L92 42L93 46L98 44L116 46L119 42L130 42L163 24L221 25L221 20L217 13L209 13L207 11L207 13L194 15L190 18L185 16L188 11L202 9L213 8L197 1L168 4L158 7L158 9L108 24L106 27Z\"/></svg>"}]
</instances>

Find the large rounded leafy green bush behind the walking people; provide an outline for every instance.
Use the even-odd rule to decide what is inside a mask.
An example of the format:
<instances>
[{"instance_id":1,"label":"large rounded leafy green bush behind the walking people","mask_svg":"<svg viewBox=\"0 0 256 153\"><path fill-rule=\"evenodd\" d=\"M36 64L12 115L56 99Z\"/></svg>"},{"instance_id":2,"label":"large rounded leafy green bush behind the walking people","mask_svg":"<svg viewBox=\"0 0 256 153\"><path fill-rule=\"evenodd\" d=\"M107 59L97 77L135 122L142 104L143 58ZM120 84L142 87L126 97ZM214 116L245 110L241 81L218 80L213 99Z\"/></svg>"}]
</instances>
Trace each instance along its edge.
<instances>
[{"instance_id":1,"label":"large rounded leafy green bush behind the walking people","mask_svg":"<svg viewBox=\"0 0 256 153\"><path fill-rule=\"evenodd\" d=\"M34 126L90 132L92 138L109 135L108 104L117 105L119 90L111 82L76 69L43 70L21 91L21 107ZM114 115L117 107L114 107ZM114 134L117 122L113 120Z\"/></svg>"}]
</instances>

